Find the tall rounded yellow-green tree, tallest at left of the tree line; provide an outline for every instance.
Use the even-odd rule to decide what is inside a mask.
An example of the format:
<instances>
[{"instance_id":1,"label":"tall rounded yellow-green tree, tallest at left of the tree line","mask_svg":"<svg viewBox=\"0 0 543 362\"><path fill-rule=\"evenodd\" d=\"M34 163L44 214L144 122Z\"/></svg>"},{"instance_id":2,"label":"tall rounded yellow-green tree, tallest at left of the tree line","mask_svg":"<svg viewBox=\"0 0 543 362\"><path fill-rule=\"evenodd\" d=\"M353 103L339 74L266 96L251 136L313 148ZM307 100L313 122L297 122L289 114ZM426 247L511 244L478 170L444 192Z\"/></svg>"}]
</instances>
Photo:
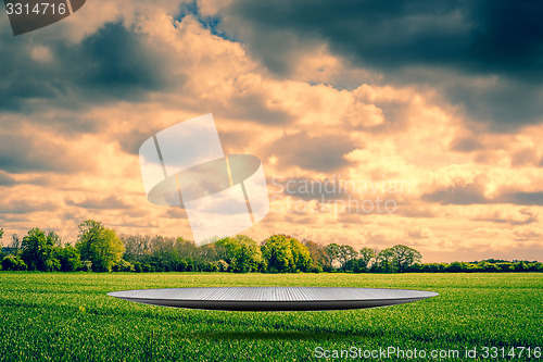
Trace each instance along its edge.
<instances>
[{"instance_id":1,"label":"tall rounded yellow-green tree, tallest at left of the tree line","mask_svg":"<svg viewBox=\"0 0 543 362\"><path fill-rule=\"evenodd\" d=\"M81 260L92 262L94 272L111 272L112 266L121 261L125 251L117 234L93 220L86 220L78 227L79 238L76 248Z\"/></svg>"}]
</instances>

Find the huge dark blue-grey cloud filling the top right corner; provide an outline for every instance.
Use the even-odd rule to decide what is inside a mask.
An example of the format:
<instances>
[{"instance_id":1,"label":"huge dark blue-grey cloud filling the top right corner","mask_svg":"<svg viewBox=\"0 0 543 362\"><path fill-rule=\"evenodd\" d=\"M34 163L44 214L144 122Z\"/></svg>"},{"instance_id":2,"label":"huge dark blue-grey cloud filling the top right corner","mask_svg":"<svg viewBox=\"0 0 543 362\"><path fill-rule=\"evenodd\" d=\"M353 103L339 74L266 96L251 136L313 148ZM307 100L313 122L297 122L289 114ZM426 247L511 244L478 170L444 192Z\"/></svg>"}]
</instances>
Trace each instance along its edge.
<instances>
[{"instance_id":1,"label":"huge dark blue-grey cloud filling the top right corner","mask_svg":"<svg viewBox=\"0 0 543 362\"><path fill-rule=\"evenodd\" d=\"M280 75L326 43L383 82L441 88L504 130L543 121L542 15L539 0L237 0L218 26ZM487 84L465 80L475 76Z\"/></svg>"}]
</instances>

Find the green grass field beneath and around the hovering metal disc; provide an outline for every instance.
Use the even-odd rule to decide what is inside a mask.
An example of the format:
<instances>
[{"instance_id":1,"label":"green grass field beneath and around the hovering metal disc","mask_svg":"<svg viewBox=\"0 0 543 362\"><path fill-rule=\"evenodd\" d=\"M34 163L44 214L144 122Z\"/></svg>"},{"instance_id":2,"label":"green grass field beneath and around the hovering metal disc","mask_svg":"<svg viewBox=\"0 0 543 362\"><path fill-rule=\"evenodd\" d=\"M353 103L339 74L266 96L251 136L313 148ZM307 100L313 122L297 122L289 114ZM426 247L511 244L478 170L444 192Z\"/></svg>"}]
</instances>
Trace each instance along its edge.
<instances>
[{"instance_id":1,"label":"green grass field beneath and around the hovering metal disc","mask_svg":"<svg viewBox=\"0 0 543 362\"><path fill-rule=\"evenodd\" d=\"M406 288L440 296L371 310L285 313L169 309L105 296L197 286ZM466 349L485 346L506 353L519 347L513 360L543 361L526 351L518 358L520 347L543 347L543 274L0 273L0 289L1 361L353 360L318 359L319 347L416 348L429 360L432 350L458 350L463 361L492 360L464 358Z\"/></svg>"}]
</instances>

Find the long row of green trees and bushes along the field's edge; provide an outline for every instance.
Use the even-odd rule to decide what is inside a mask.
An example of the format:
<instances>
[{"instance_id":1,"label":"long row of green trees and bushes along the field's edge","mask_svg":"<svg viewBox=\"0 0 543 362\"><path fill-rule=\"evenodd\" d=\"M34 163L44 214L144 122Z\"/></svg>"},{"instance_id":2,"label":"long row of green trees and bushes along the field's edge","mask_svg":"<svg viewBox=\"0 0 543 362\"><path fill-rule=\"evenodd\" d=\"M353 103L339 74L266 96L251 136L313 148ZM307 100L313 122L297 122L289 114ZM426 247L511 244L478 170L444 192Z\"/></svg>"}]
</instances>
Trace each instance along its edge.
<instances>
[{"instance_id":1,"label":"long row of green trees and bushes along the field's edge","mask_svg":"<svg viewBox=\"0 0 543 362\"><path fill-rule=\"evenodd\" d=\"M231 272L231 273L460 273L543 272L540 262L485 260L421 263L417 250L396 245L383 250L323 246L288 235L262 242L237 235L197 247L182 237L117 235L102 223L78 225L75 246L51 230L33 228L0 253L0 270L41 272ZM3 229L0 228L0 239Z\"/></svg>"}]
</instances>

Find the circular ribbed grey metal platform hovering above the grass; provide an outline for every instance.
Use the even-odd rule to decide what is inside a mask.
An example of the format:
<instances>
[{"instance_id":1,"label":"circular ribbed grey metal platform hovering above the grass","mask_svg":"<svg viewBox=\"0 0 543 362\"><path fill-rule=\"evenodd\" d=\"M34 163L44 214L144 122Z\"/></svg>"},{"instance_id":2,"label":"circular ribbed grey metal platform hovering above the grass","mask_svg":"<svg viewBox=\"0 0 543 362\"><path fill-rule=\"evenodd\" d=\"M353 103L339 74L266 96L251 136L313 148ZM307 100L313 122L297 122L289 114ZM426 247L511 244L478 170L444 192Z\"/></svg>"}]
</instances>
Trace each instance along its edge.
<instances>
[{"instance_id":1,"label":"circular ribbed grey metal platform hovering above the grass","mask_svg":"<svg viewBox=\"0 0 543 362\"><path fill-rule=\"evenodd\" d=\"M438 296L433 291L329 287L222 287L112 291L144 304L223 311L324 311L386 307Z\"/></svg>"}]
</instances>

